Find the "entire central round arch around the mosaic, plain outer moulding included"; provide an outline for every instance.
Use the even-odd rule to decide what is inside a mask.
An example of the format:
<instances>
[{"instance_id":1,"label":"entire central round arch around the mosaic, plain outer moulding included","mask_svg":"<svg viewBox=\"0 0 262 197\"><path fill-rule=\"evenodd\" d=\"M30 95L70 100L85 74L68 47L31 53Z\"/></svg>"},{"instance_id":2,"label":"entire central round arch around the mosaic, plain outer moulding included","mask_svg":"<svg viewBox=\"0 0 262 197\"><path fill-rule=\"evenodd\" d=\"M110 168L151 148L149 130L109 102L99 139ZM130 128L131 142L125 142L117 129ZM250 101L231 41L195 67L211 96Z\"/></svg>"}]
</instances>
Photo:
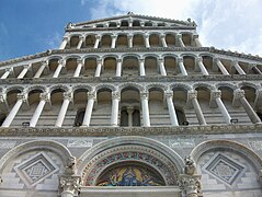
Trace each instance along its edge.
<instances>
[{"instance_id":1,"label":"entire central round arch around the mosaic, plain outer moulding included","mask_svg":"<svg viewBox=\"0 0 262 197\"><path fill-rule=\"evenodd\" d=\"M103 141L80 157L77 169L84 185L95 185L99 177L115 164L132 162L150 166L161 175L164 185L176 185L183 160L167 146L143 137L118 137Z\"/></svg>"}]
</instances>

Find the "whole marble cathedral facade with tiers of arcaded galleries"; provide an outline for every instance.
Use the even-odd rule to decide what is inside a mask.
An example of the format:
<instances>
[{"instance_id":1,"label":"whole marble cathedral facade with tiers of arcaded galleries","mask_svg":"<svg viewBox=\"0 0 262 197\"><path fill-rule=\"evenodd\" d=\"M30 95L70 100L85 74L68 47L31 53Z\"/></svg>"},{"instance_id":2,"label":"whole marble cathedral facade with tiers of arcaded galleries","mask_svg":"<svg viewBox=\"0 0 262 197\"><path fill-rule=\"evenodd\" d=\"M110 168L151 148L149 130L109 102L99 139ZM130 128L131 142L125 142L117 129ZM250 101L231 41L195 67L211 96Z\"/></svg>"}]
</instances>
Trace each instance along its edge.
<instances>
[{"instance_id":1,"label":"whole marble cathedral facade with tiers of arcaded galleries","mask_svg":"<svg viewBox=\"0 0 262 197\"><path fill-rule=\"evenodd\" d=\"M69 23L0 62L0 196L262 196L262 58L196 24Z\"/></svg>"}]
</instances>

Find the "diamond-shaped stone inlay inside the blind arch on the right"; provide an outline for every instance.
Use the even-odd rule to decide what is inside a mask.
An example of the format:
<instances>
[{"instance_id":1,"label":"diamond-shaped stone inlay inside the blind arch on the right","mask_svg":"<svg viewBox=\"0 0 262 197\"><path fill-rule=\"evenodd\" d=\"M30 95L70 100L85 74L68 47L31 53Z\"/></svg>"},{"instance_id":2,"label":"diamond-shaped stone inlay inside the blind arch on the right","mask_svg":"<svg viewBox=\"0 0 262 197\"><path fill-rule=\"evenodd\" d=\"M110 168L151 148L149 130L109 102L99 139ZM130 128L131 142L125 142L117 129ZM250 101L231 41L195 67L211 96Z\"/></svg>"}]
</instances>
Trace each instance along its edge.
<instances>
[{"instance_id":1,"label":"diamond-shaped stone inlay inside the blind arch on the right","mask_svg":"<svg viewBox=\"0 0 262 197\"><path fill-rule=\"evenodd\" d=\"M203 169L208 172L208 174L229 185L232 185L246 170L239 162L221 153L215 154Z\"/></svg>"}]
</instances>

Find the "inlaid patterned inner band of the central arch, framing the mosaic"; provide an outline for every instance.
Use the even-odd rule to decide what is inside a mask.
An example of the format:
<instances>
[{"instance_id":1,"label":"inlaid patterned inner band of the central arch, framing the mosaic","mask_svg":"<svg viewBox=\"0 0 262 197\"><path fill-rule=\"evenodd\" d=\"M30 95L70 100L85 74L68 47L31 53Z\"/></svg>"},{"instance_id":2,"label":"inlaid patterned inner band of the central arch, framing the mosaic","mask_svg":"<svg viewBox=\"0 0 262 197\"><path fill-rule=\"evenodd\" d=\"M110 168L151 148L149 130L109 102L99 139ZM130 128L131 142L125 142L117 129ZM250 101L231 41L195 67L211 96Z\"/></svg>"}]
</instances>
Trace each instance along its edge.
<instances>
[{"instance_id":1,"label":"inlaid patterned inner band of the central arch, framing the mosaic","mask_svg":"<svg viewBox=\"0 0 262 197\"><path fill-rule=\"evenodd\" d=\"M139 146L125 146L102 152L87 163L86 169L82 172L84 185L95 185L101 173L111 165L122 162L148 164L161 174L167 185L176 184L178 170L168 158L159 155L158 152L152 151L151 149Z\"/></svg>"}]
</instances>

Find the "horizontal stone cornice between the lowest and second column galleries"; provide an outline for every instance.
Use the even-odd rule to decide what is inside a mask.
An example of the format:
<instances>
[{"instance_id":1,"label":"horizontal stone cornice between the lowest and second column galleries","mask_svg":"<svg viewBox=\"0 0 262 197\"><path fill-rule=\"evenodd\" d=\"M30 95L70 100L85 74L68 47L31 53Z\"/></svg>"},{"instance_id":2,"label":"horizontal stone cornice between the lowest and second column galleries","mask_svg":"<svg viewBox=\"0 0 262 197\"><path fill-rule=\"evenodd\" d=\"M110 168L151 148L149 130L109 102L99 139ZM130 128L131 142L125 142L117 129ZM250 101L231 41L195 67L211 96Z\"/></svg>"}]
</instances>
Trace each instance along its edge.
<instances>
[{"instance_id":1,"label":"horizontal stone cornice between the lowest and second column galleries","mask_svg":"<svg viewBox=\"0 0 262 197\"><path fill-rule=\"evenodd\" d=\"M0 79L1 84L57 84L57 83L124 83L124 82L243 82L243 81L262 81L261 74L210 74L210 76L157 76L157 77L79 77L79 78L8 78Z\"/></svg>"}]
</instances>

